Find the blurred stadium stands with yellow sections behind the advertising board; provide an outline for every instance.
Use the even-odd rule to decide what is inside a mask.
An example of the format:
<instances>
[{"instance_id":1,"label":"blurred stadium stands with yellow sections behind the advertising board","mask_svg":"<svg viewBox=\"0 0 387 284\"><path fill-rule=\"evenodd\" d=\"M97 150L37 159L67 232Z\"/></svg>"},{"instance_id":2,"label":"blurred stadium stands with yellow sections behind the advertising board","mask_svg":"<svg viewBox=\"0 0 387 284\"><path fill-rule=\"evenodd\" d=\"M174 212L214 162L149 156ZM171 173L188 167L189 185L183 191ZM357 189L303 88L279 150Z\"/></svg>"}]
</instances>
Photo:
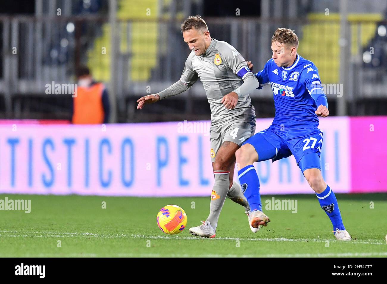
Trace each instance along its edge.
<instances>
[{"instance_id":1,"label":"blurred stadium stands with yellow sections behind the advertising board","mask_svg":"<svg viewBox=\"0 0 387 284\"><path fill-rule=\"evenodd\" d=\"M180 23L195 14L204 17L213 38L251 60L255 71L271 56L273 31L294 29L299 53L315 62L322 82L342 84L341 98L328 95L331 115L387 114L384 0L17 0L1 5L1 118L70 119L72 99L46 95L45 85L76 83L76 69L87 65L109 90L111 122L209 119L200 82L186 94L135 110L135 100L147 90L159 92L180 77L189 53ZM251 97L259 105L257 117L274 116L270 88Z\"/></svg>"}]
</instances>

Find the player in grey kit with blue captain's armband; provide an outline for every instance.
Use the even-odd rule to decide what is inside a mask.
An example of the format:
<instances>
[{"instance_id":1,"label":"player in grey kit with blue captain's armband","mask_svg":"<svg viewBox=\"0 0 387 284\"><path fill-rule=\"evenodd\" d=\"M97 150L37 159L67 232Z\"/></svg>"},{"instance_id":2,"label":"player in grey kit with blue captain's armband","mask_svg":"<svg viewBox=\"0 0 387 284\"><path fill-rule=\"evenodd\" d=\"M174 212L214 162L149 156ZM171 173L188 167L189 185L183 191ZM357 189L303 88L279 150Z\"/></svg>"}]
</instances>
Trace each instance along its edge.
<instances>
[{"instance_id":1,"label":"player in grey kit with blue captain's armband","mask_svg":"<svg viewBox=\"0 0 387 284\"><path fill-rule=\"evenodd\" d=\"M188 17L181 31L192 52L185 61L180 80L158 94L137 100L137 109L188 90L198 78L203 83L211 108L211 162L215 184L207 220L189 231L213 238L226 196L245 207L250 224L250 206L240 185L233 182L233 173L235 151L255 133L255 109L248 93L255 90L259 82L233 46L211 38L200 16ZM251 225L250 229L254 233L257 231Z\"/></svg>"}]
</instances>

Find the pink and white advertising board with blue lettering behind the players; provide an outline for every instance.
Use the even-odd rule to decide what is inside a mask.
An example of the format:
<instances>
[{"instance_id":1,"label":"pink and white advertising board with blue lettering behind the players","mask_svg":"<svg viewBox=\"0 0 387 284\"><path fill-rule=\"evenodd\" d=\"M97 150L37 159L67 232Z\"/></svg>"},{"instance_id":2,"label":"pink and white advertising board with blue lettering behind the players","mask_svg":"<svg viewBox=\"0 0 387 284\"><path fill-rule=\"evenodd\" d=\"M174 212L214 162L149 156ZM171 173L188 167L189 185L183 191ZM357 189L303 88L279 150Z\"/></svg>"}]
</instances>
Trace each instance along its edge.
<instances>
[{"instance_id":1,"label":"pink and white advertising board with blue lettering behind the players","mask_svg":"<svg viewBox=\"0 0 387 284\"><path fill-rule=\"evenodd\" d=\"M387 150L381 142L386 141L382 127L387 119L373 120L374 136L362 129L367 119L320 119L322 173L335 192L387 191ZM271 121L259 119L256 131ZM209 121L0 124L0 193L209 196L214 181L209 126ZM356 140L358 135L365 138ZM363 148L372 150L359 153ZM363 165L354 162L356 157ZM293 156L255 163L255 168L262 194L312 193Z\"/></svg>"}]
</instances>

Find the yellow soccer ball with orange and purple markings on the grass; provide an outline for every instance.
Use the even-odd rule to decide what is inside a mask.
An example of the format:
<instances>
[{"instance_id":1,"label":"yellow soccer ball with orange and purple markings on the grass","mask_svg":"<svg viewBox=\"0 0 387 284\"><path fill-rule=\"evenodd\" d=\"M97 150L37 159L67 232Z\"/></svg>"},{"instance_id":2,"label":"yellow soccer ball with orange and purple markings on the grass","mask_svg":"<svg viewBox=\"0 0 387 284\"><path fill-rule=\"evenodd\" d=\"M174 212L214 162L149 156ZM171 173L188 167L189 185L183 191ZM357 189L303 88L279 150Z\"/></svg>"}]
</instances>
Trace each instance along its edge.
<instances>
[{"instance_id":1,"label":"yellow soccer ball with orange and purple markings on the grass","mask_svg":"<svg viewBox=\"0 0 387 284\"><path fill-rule=\"evenodd\" d=\"M157 225L168 235L178 234L187 225L187 214L177 205L164 206L157 214Z\"/></svg>"}]
</instances>

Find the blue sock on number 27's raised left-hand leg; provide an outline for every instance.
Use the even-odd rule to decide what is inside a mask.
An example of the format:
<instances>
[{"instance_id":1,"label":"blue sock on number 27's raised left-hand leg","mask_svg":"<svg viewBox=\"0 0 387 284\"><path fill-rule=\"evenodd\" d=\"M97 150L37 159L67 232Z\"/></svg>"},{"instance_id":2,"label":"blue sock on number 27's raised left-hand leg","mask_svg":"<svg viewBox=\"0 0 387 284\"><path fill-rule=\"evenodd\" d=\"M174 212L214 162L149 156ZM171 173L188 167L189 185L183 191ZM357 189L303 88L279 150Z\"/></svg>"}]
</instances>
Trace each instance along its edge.
<instances>
[{"instance_id":1,"label":"blue sock on number 27's raised left-hand leg","mask_svg":"<svg viewBox=\"0 0 387 284\"><path fill-rule=\"evenodd\" d=\"M259 195L259 179L253 165L248 165L238 171L238 178L241 183L241 190L251 211L258 209L262 211L261 197Z\"/></svg>"}]
</instances>

